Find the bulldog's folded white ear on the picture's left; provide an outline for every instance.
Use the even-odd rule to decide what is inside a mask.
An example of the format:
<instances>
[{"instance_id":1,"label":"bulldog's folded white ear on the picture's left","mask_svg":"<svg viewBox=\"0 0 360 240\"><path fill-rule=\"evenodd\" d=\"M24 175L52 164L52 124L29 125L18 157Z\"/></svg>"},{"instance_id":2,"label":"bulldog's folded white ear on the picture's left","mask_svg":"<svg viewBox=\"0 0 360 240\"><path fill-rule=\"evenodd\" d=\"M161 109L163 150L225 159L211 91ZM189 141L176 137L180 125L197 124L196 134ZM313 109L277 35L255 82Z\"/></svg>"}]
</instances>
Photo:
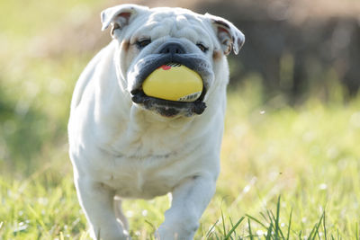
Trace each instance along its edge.
<instances>
[{"instance_id":1,"label":"bulldog's folded white ear on the picture's left","mask_svg":"<svg viewBox=\"0 0 360 240\"><path fill-rule=\"evenodd\" d=\"M101 13L101 21L103 23L102 31L107 29L111 24L111 34L112 37L114 37L115 30L121 30L126 25L129 25L139 13L144 11L148 11L148 7L137 4L121 4L107 8Z\"/></svg>"}]
</instances>

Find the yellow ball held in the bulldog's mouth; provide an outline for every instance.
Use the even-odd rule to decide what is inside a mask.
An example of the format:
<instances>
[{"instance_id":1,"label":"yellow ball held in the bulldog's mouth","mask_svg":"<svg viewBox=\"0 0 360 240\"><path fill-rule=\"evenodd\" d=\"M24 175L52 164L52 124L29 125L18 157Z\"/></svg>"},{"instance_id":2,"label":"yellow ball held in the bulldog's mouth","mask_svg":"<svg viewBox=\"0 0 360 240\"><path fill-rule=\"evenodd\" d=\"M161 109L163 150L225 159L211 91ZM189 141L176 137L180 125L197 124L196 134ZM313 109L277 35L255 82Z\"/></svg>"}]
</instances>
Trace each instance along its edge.
<instances>
[{"instance_id":1,"label":"yellow ball held in the bulldog's mouth","mask_svg":"<svg viewBox=\"0 0 360 240\"><path fill-rule=\"evenodd\" d=\"M202 77L188 67L169 63L158 67L142 84L151 97L179 102L193 102L202 94Z\"/></svg>"}]
</instances>

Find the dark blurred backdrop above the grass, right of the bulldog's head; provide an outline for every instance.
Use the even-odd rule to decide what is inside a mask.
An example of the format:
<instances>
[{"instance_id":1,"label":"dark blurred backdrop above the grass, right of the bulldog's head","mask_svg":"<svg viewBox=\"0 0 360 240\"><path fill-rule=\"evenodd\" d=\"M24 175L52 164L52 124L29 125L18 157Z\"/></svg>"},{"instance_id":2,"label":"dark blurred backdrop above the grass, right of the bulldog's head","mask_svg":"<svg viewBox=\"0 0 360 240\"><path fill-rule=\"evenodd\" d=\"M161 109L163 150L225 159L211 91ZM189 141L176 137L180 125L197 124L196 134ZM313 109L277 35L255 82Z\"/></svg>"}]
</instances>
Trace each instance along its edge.
<instances>
[{"instance_id":1,"label":"dark blurred backdrop above the grass, right of the bulldog's head","mask_svg":"<svg viewBox=\"0 0 360 240\"><path fill-rule=\"evenodd\" d=\"M225 0L198 1L195 8L227 17L244 31L247 40L240 58L231 58L236 62L233 79L257 72L268 96L285 93L297 100L312 89L327 93L331 73L350 95L357 93L360 3Z\"/></svg>"}]
</instances>

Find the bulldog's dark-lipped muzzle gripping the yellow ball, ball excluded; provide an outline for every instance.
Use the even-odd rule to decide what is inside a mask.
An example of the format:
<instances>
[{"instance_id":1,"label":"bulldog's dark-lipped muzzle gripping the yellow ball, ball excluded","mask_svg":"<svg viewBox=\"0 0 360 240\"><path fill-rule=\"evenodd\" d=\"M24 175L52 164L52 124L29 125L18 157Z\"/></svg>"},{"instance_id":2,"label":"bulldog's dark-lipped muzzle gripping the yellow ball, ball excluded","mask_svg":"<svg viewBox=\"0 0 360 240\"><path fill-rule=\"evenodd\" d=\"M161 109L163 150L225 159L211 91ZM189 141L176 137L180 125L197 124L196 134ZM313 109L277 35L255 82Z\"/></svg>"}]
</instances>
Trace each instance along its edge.
<instances>
[{"instance_id":1,"label":"bulldog's dark-lipped muzzle gripping the yellow ball, ball excluded","mask_svg":"<svg viewBox=\"0 0 360 240\"><path fill-rule=\"evenodd\" d=\"M148 76L158 67L162 67L168 63L176 63L188 67L196 72L202 78L202 93L193 102L172 101L154 96L149 96L144 92L143 83ZM209 84L213 79L211 64L204 58L195 54L152 54L146 58L142 58L130 73L133 84L130 86L132 102L141 104L145 109L156 111L165 117L174 117L176 115L184 115L191 117L200 115L205 111L206 104L204 98L209 88Z\"/></svg>"}]
</instances>

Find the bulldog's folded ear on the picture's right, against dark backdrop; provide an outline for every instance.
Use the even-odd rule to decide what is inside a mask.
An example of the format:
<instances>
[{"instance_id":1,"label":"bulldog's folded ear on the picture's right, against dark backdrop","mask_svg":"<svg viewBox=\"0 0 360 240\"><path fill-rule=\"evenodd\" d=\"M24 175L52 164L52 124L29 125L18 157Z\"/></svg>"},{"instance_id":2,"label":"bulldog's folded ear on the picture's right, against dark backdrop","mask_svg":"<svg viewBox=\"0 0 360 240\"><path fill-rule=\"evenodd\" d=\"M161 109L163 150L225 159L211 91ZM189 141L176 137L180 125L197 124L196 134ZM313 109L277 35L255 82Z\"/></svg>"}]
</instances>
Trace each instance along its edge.
<instances>
[{"instance_id":1,"label":"bulldog's folded ear on the picture's right, against dark backdrop","mask_svg":"<svg viewBox=\"0 0 360 240\"><path fill-rule=\"evenodd\" d=\"M235 54L241 49L245 42L244 34L238 30L231 22L218 16L205 14L205 17L210 19L212 27L217 34L220 41L221 48L225 55L229 55L231 50L234 50Z\"/></svg>"}]
</instances>

